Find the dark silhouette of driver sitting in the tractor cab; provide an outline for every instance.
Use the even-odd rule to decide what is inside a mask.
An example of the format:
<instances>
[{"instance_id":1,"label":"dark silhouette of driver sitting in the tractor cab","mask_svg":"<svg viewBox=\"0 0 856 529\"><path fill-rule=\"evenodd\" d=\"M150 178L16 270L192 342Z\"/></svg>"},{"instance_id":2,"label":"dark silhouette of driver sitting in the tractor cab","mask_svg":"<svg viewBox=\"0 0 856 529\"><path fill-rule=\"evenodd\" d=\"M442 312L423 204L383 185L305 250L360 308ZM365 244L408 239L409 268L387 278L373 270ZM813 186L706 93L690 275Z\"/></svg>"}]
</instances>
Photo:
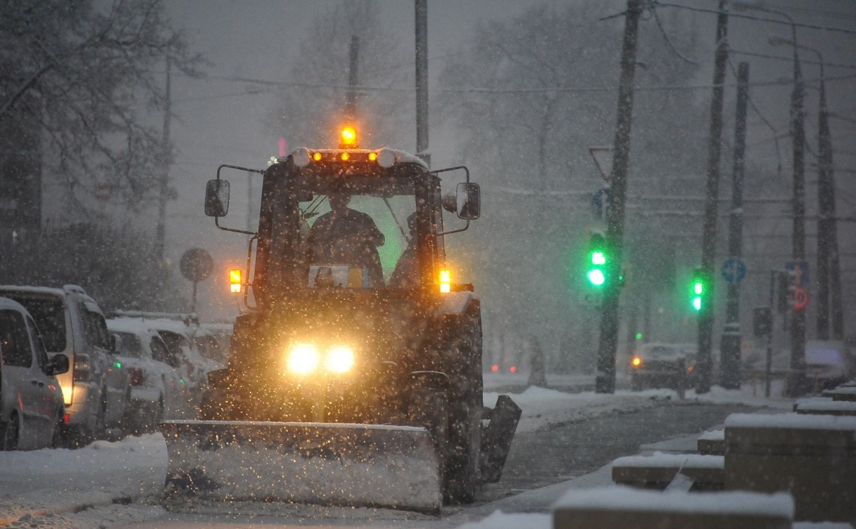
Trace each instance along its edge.
<instances>
[{"instance_id":1,"label":"dark silhouette of driver sitting in the tractor cab","mask_svg":"<svg viewBox=\"0 0 856 529\"><path fill-rule=\"evenodd\" d=\"M330 211L312 225L307 239L309 262L348 264L368 270L372 287L383 287L383 268L377 247L382 247L383 233L372 217L348 207L348 193L330 193Z\"/></svg>"}]
</instances>

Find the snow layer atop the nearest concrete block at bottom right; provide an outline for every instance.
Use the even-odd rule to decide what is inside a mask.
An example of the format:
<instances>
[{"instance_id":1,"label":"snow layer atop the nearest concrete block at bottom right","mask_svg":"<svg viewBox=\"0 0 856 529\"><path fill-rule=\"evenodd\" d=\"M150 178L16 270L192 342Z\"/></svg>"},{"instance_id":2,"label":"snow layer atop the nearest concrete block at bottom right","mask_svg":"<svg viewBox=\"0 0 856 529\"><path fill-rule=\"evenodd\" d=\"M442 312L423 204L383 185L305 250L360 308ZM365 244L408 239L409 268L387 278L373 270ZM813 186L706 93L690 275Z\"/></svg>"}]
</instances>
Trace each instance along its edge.
<instances>
[{"instance_id":1,"label":"snow layer atop the nearest concrete block at bottom right","mask_svg":"<svg viewBox=\"0 0 856 529\"><path fill-rule=\"evenodd\" d=\"M794 498L787 492L657 492L614 486L572 490L554 508L615 511L669 511L686 514L746 514L794 517Z\"/></svg>"}]
</instances>

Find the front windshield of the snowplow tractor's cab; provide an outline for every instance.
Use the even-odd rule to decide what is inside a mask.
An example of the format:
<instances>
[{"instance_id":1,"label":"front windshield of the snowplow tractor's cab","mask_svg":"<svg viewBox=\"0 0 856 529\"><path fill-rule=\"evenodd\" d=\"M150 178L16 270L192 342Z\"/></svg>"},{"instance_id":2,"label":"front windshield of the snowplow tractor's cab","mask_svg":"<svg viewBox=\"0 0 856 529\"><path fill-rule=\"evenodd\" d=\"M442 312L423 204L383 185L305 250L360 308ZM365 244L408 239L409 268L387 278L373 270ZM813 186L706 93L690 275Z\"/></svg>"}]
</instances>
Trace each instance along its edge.
<instances>
[{"instance_id":1,"label":"front windshield of the snowplow tractor's cab","mask_svg":"<svg viewBox=\"0 0 856 529\"><path fill-rule=\"evenodd\" d=\"M416 199L401 177L299 179L300 253L306 288L412 286Z\"/></svg>"}]
</instances>

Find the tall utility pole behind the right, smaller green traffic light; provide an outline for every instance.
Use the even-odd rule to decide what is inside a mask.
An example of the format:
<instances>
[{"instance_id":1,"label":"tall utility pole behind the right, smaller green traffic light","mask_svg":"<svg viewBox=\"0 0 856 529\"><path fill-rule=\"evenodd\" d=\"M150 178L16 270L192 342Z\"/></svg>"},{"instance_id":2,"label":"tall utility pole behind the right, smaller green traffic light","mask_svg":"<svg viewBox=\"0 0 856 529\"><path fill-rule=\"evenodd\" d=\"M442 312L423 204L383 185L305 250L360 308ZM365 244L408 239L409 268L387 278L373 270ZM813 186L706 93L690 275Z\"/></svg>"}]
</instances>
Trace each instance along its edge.
<instances>
[{"instance_id":1,"label":"tall utility pole behind the right, smaller green traffic light","mask_svg":"<svg viewBox=\"0 0 856 529\"><path fill-rule=\"evenodd\" d=\"M716 15L716 55L713 68L713 99L710 101L710 138L707 144L707 174L704 186L704 232L701 244L701 269L708 277L709 301L698 311L698 382L697 393L710 391L710 372L713 349L713 306L716 294L713 281L716 259L716 200L719 197L719 157L722 146L722 83L725 80L725 62L728 60L728 12L725 0L719 0Z\"/></svg>"}]
</instances>

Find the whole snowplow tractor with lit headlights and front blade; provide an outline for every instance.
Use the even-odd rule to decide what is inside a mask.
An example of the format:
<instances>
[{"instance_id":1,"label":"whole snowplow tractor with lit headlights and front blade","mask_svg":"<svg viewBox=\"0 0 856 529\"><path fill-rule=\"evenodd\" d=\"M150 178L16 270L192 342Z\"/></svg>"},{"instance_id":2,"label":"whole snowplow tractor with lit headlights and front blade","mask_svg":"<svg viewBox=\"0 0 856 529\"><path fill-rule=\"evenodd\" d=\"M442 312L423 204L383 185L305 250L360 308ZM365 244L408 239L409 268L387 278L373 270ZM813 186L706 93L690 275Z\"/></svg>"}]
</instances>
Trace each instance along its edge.
<instances>
[{"instance_id":1,"label":"whole snowplow tractor with lit headlights and front blade","mask_svg":"<svg viewBox=\"0 0 856 529\"><path fill-rule=\"evenodd\" d=\"M219 224L229 169L261 175L257 232ZM446 171L466 176L454 203ZM466 223L444 229L444 207ZM247 308L199 420L160 425L168 490L437 512L498 480L520 408L484 407L480 301L443 245L479 210L466 168L387 148L217 169L205 211L252 235L247 273L229 273Z\"/></svg>"}]
</instances>

